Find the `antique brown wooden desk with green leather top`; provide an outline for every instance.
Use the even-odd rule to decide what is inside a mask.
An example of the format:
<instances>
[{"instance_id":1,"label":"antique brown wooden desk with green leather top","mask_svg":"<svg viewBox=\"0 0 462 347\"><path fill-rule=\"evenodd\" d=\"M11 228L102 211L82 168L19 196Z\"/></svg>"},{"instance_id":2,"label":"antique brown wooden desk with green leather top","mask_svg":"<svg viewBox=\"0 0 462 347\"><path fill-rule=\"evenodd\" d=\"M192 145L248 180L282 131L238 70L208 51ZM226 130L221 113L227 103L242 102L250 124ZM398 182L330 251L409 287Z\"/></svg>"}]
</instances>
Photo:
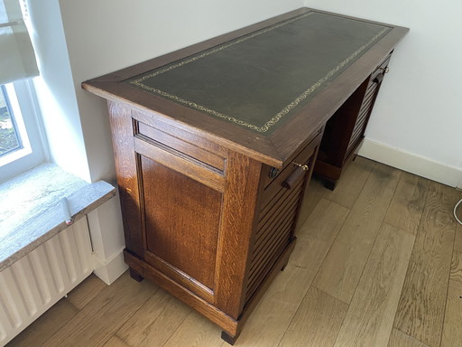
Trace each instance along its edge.
<instances>
[{"instance_id":1,"label":"antique brown wooden desk with green leather top","mask_svg":"<svg viewBox=\"0 0 462 347\"><path fill-rule=\"evenodd\" d=\"M234 343L288 262L319 146L335 184L407 31L303 8L84 82L108 100L132 277Z\"/></svg>"}]
</instances>

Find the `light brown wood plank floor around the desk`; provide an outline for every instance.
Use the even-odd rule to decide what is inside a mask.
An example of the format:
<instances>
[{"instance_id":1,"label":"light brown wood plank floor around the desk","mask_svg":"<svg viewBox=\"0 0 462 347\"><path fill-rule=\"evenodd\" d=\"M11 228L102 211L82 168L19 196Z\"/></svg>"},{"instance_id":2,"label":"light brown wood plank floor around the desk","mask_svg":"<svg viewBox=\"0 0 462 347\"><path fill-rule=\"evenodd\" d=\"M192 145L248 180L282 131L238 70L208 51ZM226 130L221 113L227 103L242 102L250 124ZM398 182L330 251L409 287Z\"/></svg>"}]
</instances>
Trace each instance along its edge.
<instances>
[{"instance_id":1,"label":"light brown wood plank floor around the desk","mask_svg":"<svg viewBox=\"0 0 462 347\"><path fill-rule=\"evenodd\" d=\"M462 192L357 157L310 183L289 265L236 342L262 347L462 346ZM90 276L8 347L226 347L147 280Z\"/></svg>"}]
</instances>

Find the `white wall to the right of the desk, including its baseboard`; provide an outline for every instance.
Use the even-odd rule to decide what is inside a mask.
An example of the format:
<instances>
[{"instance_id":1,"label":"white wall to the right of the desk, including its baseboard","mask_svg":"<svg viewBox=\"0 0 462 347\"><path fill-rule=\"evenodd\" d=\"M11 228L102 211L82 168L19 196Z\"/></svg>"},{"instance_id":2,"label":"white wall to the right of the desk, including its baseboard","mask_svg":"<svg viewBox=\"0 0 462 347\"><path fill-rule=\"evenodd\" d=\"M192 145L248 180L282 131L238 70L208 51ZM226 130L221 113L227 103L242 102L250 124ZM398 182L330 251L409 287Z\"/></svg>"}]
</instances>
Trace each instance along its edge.
<instances>
[{"instance_id":1,"label":"white wall to the right of the desk, including its baseboard","mask_svg":"<svg viewBox=\"0 0 462 347\"><path fill-rule=\"evenodd\" d=\"M362 151L462 187L462 2L305 0L305 5L411 29L393 54Z\"/></svg>"}]
</instances>

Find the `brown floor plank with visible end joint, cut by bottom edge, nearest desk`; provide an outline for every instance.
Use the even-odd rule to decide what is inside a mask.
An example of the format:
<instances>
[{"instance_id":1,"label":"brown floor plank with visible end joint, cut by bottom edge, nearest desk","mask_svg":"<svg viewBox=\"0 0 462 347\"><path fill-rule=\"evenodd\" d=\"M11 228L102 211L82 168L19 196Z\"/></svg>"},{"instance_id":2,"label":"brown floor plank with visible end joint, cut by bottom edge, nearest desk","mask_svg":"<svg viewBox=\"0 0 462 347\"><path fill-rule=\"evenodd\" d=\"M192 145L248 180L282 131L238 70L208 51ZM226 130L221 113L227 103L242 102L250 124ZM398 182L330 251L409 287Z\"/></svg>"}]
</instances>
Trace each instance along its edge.
<instances>
[{"instance_id":1,"label":"brown floor plank with visible end joint, cut by bottom edge, nearest desk","mask_svg":"<svg viewBox=\"0 0 462 347\"><path fill-rule=\"evenodd\" d=\"M279 346L333 346L347 308L335 297L310 287Z\"/></svg>"}]
</instances>

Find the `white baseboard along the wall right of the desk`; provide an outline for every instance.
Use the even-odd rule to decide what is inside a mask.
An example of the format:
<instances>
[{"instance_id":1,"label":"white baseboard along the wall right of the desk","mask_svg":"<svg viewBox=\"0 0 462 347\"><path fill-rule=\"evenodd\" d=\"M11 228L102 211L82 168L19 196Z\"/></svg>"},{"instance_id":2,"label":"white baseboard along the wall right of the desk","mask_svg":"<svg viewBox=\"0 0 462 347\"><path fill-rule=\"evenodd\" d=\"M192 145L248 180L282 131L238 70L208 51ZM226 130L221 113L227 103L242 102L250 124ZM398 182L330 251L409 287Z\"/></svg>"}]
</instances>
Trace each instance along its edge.
<instances>
[{"instance_id":1,"label":"white baseboard along the wall right of the desk","mask_svg":"<svg viewBox=\"0 0 462 347\"><path fill-rule=\"evenodd\" d=\"M432 181L458 189L462 188L462 168L442 164L424 156L402 151L399 148L365 139L358 155Z\"/></svg>"}]
</instances>

